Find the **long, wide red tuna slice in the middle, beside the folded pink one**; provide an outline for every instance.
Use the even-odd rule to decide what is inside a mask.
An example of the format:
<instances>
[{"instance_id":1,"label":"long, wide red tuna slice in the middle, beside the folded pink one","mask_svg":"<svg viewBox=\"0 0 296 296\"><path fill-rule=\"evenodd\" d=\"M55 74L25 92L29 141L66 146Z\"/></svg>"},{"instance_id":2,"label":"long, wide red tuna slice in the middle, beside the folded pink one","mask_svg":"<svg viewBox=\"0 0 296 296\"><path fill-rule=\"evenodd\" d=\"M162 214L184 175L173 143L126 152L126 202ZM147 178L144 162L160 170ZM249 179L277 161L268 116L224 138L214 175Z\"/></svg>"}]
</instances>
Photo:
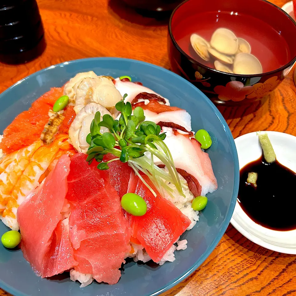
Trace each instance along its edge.
<instances>
[{"instance_id":1,"label":"long, wide red tuna slice in the middle, beside the folded pink one","mask_svg":"<svg viewBox=\"0 0 296 296\"><path fill-rule=\"evenodd\" d=\"M118 269L130 250L130 227L109 176L97 169L97 162L89 166L86 155L76 154L71 158L66 198L71 204L75 270L92 274L97 282L117 283Z\"/></svg>"}]
</instances>

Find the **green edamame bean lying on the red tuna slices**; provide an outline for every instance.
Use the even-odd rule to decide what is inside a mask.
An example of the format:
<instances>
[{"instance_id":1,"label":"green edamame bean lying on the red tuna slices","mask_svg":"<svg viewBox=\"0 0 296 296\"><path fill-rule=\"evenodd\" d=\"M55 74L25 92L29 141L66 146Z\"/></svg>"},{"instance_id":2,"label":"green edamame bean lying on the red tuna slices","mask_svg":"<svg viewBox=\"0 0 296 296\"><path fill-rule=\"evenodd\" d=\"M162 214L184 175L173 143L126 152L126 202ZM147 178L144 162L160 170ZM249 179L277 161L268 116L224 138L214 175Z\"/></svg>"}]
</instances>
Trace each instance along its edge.
<instances>
[{"instance_id":1,"label":"green edamame bean lying on the red tuna slices","mask_svg":"<svg viewBox=\"0 0 296 296\"><path fill-rule=\"evenodd\" d=\"M133 216L143 216L147 212L147 204L141 196L135 193L126 193L121 198L121 206Z\"/></svg>"}]
</instances>

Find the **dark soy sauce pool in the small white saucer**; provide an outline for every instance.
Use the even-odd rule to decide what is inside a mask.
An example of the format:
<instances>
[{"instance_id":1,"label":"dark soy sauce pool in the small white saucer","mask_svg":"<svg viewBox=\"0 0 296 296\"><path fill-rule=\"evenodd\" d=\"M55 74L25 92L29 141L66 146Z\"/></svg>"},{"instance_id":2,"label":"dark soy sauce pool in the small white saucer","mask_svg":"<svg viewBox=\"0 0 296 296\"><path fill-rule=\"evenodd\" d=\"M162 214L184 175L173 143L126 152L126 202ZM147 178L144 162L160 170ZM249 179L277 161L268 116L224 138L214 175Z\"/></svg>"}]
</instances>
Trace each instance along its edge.
<instances>
[{"instance_id":1,"label":"dark soy sauce pool in the small white saucer","mask_svg":"<svg viewBox=\"0 0 296 296\"><path fill-rule=\"evenodd\" d=\"M247 184L249 172L258 174L257 187ZM296 229L296 174L277 160L266 163L261 157L240 171L237 200L257 224L278 231Z\"/></svg>"}]
</instances>

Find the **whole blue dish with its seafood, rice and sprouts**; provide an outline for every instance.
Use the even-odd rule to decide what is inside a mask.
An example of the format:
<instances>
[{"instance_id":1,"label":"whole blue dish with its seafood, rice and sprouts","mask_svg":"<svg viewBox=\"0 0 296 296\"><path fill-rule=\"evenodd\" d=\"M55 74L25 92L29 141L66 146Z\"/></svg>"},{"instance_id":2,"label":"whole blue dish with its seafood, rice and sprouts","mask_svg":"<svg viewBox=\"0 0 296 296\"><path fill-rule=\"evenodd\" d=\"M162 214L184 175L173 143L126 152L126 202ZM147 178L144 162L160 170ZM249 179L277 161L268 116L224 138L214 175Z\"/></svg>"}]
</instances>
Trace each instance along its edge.
<instances>
[{"instance_id":1,"label":"whole blue dish with its seafood, rice and sprouts","mask_svg":"<svg viewBox=\"0 0 296 296\"><path fill-rule=\"evenodd\" d=\"M1 235L14 230L0 247L5 290L159 294L220 240L238 190L236 150L186 80L134 60L77 60L0 101Z\"/></svg>"}]
</instances>

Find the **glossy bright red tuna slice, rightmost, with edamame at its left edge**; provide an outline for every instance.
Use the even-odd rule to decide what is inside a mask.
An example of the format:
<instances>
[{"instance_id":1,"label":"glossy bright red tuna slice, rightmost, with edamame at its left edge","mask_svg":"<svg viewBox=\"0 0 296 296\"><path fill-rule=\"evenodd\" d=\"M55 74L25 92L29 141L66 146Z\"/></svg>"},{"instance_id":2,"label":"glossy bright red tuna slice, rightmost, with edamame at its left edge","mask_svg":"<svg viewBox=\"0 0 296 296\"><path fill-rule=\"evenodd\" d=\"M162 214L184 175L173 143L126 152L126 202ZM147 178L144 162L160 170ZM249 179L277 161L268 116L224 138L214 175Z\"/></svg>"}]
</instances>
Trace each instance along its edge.
<instances>
[{"instance_id":1,"label":"glossy bright red tuna slice, rightmost, with edamame at its left edge","mask_svg":"<svg viewBox=\"0 0 296 296\"><path fill-rule=\"evenodd\" d=\"M142 177L153 187L147 176ZM140 195L146 201L147 212L143 216L127 214L132 228L132 237L141 242L154 262L158 262L178 236L187 229L190 220L169 200L159 194L155 197L138 177L135 177L134 181L136 186L130 184L129 192ZM131 188L135 189L131 190Z\"/></svg>"}]
</instances>

